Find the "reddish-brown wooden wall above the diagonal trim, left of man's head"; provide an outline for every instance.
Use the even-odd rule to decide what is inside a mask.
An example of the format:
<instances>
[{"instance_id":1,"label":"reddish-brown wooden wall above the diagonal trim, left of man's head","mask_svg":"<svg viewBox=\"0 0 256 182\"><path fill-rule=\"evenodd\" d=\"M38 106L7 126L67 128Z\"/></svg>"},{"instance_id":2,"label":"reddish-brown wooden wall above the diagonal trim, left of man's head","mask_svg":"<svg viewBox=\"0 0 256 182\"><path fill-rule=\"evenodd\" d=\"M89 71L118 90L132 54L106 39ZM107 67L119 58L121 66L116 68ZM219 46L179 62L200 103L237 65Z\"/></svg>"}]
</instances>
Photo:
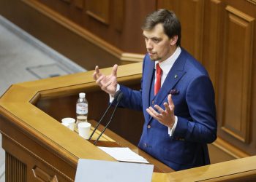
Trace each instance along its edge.
<instances>
[{"instance_id":1,"label":"reddish-brown wooden wall above the diagonal trim, left of man's head","mask_svg":"<svg viewBox=\"0 0 256 182\"><path fill-rule=\"evenodd\" d=\"M155 10L154 1L84 0L71 1L71 4L49 0L36 2L45 4L124 52L144 53L146 50L140 26L144 17ZM78 7L82 11L78 12ZM129 11L125 10L127 8ZM136 44L131 39L136 40Z\"/></svg>"}]
</instances>

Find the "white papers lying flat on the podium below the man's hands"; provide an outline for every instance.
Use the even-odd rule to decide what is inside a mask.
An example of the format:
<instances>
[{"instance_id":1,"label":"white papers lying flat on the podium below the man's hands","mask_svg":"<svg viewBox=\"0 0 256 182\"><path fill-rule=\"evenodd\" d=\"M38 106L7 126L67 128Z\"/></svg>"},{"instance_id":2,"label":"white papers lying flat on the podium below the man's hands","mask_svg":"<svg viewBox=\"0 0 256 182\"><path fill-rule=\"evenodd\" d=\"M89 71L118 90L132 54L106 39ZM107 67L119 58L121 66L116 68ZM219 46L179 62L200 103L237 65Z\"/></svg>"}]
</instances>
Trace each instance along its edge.
<instances>
[{"instance_id":1,"label":"white papers lying flat on the podium below the man's hands","mask_svg":"<svg viewBox=\"0 0 256 182\"><path fill-rule=\"evenodd\" d=\"M102 147L98 146L99 149L105 151L111 157L122 162L138 162L138 163L149 163L146 159L136 154L134 151L127 147Z\"/></svg>"}]
</instances>

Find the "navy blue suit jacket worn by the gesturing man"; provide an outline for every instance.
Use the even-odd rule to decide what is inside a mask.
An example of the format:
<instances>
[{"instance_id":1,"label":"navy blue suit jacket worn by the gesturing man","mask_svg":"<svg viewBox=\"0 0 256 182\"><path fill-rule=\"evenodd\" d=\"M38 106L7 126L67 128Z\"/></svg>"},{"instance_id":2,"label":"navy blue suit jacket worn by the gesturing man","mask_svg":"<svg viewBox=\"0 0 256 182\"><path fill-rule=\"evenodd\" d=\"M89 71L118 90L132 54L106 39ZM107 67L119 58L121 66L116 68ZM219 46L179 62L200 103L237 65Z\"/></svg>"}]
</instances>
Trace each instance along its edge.
<instances>
[{"instance_id":1,"label":"navy blue suit jacket worn by the gesturing man","mask_svg":"<svg viewBox=\"0 0 256 182\"><path fill-rule=\"evenodd\" d=\"M141 90L131 90L123 85L120 87L124 93L121 106L143 111L144 114L143 133L138 144L140 149L173 170L210 164L207 143L217 138L217 121L214 88L206 69L181 49L156 96L151 91L154 90L153 82L154 61L146 55ZM171 137L167 127L146 112L146 108L154 108L155 104L165 109L163 103L167 102L170 92L173 93L174 114L178 117L176 130Z\"/></svg>"}]
</instances>

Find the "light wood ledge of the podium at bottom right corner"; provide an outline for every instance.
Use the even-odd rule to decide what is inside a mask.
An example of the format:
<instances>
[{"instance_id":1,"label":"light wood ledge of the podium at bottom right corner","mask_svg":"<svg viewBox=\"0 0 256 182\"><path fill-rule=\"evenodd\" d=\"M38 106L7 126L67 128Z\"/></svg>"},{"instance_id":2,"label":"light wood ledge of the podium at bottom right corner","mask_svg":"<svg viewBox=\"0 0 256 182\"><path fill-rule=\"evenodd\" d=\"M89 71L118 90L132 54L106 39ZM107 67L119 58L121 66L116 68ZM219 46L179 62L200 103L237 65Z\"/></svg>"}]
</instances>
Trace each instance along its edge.
<instances>
[{"instance_id":1,"label":"light wood ledge of the podium at bottom right corner","mask_svg":"<svg viewBox=\"0 0 256 182\"><path fill-rule=\"evenodd\" d=\"M246 164L246 165L243 165ZM190 170L181 170L176 173L154 173L153 182L157 181L234 181L237 178L246 178L254 175L256 178L256 156L243 159L220 162L214 165L196 167Z\"/></svg>"}]
</instances>

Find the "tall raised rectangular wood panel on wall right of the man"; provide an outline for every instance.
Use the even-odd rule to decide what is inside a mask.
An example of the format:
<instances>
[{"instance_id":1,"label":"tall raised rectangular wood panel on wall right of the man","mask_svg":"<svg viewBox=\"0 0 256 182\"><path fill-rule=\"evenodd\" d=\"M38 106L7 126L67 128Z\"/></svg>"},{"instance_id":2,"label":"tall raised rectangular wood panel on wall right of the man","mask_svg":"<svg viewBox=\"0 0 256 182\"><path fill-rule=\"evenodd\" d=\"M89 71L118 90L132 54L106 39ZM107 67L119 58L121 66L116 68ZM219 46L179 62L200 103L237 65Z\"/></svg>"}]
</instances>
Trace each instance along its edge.
<instances>
[{"instance_id":1,"label":"tall raised rectangular wood panel on wall right of the man","mask_svg":"<svg viewBox=\"0 0 256 182\"><path fill-rule=\"evenodd\" d=\"M225 15L225 78L221 128L248 143L252 80L252 28L254 18L227 6Z\"/></svg>"}]
</instances>

